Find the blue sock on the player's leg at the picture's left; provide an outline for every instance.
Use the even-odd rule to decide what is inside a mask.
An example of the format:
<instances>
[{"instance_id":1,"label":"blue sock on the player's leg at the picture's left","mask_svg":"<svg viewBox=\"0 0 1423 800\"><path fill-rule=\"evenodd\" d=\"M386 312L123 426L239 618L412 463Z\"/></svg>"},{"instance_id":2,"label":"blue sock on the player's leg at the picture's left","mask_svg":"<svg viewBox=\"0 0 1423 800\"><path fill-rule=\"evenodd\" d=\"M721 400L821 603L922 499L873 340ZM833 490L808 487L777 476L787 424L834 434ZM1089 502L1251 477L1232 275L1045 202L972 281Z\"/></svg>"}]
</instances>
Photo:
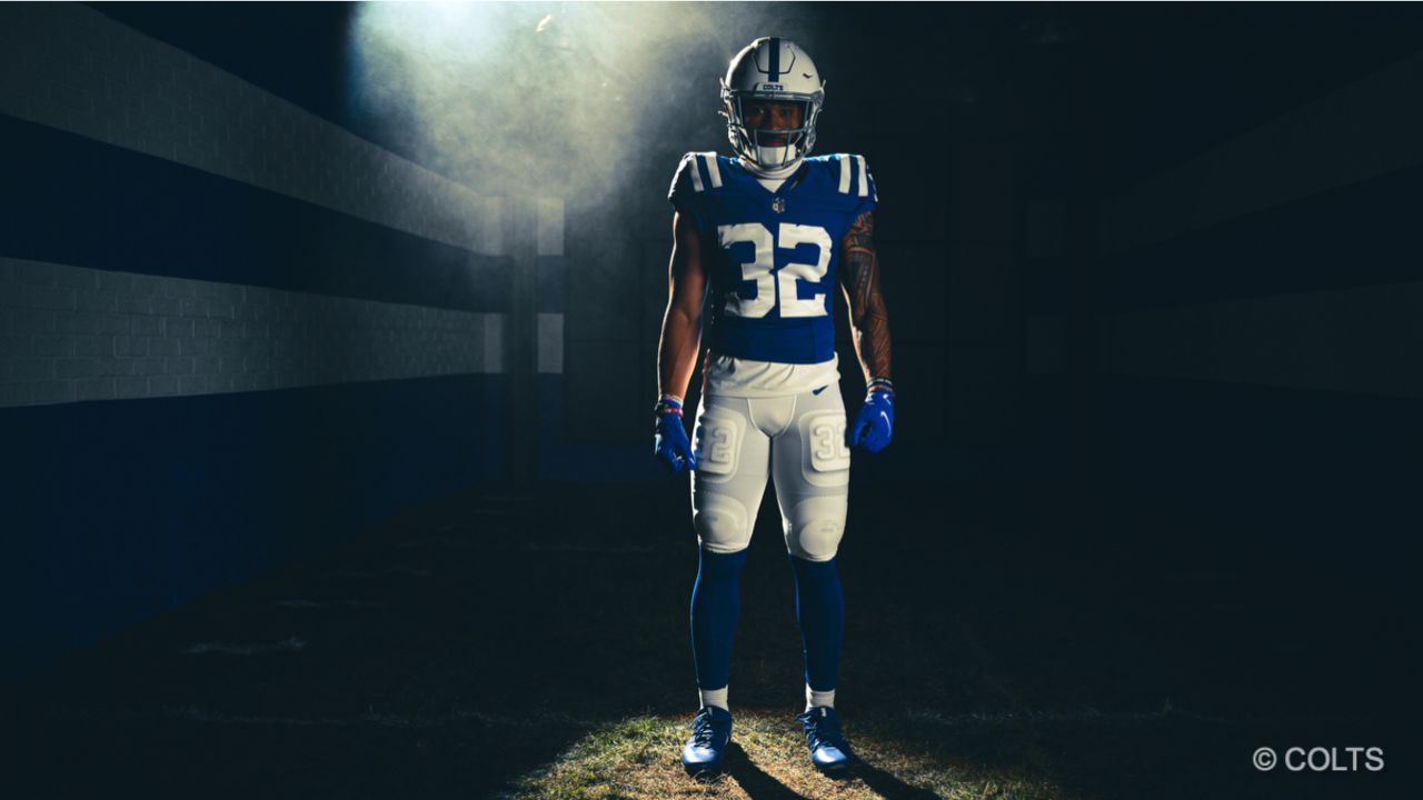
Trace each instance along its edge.
<instances>
[{"instance_id":1,"label":"blue sock on the player's leg at the picture's left","mask_svg":"<svg viewBox=\"0 0 1423 800\"><path fill-rule=\"evenodd\" d=\"M731 636L741 614L741 565L746 549L700 551L697 582L692 588L692 660L697 686L721 689L731 679Z\"/></svg>"}]
</instances>

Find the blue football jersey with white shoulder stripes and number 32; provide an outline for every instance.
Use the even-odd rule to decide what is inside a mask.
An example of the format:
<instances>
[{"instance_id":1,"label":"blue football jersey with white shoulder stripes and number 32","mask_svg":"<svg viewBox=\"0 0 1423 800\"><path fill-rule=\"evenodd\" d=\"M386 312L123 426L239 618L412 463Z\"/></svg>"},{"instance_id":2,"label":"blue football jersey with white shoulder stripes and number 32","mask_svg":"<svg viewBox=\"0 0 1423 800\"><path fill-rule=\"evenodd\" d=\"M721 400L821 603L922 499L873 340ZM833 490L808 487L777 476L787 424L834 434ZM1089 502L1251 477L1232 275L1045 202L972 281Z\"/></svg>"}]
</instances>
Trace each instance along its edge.
<instances>
[{"instance_id":1,"label":"blue football jersey with white shoulder stripes and number 32","mask_svg":"<svg viewBox=\"0 0 1423 800\"><path fill-rule=\"evenodd\" d=\"M713 353L790 364L835 356L840 242L877 201L864 157L807 158L773 192L734 158L689 152L669 199L702 233Z\"/></svg>"}]
</instances>

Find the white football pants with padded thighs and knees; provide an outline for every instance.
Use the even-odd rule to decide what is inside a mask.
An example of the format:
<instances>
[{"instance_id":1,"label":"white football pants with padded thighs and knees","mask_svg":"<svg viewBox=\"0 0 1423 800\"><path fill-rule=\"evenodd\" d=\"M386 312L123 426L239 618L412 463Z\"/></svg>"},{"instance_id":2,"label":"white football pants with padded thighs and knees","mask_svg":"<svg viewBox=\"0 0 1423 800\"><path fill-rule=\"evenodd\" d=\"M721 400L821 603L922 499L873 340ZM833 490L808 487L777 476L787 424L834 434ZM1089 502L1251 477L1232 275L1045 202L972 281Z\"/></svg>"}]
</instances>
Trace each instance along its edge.
<instances>
[{"instance_id":1,"label":"white football pants with padded thighs and knees","mask_svg":"<svg viewBox=\"0 0 1423 800\"><path fill-rule=\"evenodd\" d=\"M850 497L840 386L784 397L704 396L693 450L692 522L702 547L744 549L771 477L785 548L807 561L835 557Z\"/></svg>"}]
</instances>

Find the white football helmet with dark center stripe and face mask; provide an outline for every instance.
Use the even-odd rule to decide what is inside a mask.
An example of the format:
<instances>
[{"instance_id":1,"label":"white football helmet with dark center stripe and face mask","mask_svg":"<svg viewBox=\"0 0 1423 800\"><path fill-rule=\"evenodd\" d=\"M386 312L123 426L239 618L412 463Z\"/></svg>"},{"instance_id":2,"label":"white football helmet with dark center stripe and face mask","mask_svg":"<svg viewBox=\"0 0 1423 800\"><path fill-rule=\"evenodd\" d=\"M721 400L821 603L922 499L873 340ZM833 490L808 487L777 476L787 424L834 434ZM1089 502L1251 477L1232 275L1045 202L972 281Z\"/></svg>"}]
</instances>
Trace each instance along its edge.
<instances>
[{"instance_id":1,"label":"white football helmet with dark center stripe and face mask","mask_svg":"<svg viewBox=\"0 0 1423 800\"><path fill-rule=\"evenodd\" d=\"M801 127L790 131L747 128L741 107L747 101L801 102ZM721 78L721 115L737 155L761 169L780 169L810 155L815 145L815 118L825 101L825 81L810 54L788 38L764 36L747 44ZM784 145L764 145L768 138Z\"/></svg>"}]
</instances>

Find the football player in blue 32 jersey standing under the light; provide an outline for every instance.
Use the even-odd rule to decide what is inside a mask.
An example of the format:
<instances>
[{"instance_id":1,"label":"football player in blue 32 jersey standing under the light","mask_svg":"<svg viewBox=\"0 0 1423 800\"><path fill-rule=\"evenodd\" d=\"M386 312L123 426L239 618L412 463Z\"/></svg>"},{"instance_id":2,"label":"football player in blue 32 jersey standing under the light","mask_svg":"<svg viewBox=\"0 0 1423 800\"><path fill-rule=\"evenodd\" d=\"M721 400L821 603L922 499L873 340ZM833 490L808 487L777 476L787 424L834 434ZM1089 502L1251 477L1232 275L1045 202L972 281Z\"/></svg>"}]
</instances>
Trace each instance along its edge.
<instances>
[{"instance_id":1,"label":"football player in blue 32 jersey standing under the light","mask_svg":"<svg viewBox=\"0 0 1423 800\"><path fill-rule=\"evenodd\" d=\"M835 715L845 605L835 552L850 448L894 433L889 322L874 246L874 179L861 155L810 157L824 81L797 44L753 41L721 80L734 157L690 152L670 199L673 251L657 353L655 450L692 470L700 562L692 651L700 692L682 750L690 773L721 766L739 575L767 478L776 483L805 655L804 726L825 773L850 766ZM867 394L845 426L831 307L844 292ZM703 319L706 309L706 319ZM682 399L703 344L694 446Z\"/></svg>"}]
</instances>

